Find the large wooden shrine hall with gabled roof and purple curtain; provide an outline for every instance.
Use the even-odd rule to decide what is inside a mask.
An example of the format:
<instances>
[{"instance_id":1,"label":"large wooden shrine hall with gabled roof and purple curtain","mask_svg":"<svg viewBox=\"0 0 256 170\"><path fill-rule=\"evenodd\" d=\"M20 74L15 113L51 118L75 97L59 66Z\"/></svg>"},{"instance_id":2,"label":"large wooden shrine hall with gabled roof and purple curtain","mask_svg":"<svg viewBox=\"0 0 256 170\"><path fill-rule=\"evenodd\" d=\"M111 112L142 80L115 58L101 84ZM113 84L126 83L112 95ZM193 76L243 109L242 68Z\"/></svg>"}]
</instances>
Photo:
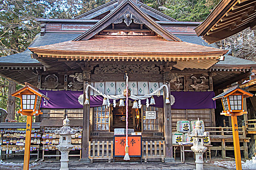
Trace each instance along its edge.
<instances>
[{"instance_id":1,"label":"large wooden shrine hall with gabled roof and purple curtain","mask_svg":"<svg viewBox=\"0 0 256 170\"><path fill-rule=\"evenodd\" d=\"M215 127L214 91L249 79L256 68L205 43L193 30L199 22L179 22L137 0L37 21L40 34L26 51L0 57L0 74L50 98L36 118L45 133L65 116L82 129L82 142L74 139L82 160L117 155L113 138L126 128L126 74L129 135L141 136L142 159L170 162L177 122L200 118Z\"/></svg>"}]
</instances>

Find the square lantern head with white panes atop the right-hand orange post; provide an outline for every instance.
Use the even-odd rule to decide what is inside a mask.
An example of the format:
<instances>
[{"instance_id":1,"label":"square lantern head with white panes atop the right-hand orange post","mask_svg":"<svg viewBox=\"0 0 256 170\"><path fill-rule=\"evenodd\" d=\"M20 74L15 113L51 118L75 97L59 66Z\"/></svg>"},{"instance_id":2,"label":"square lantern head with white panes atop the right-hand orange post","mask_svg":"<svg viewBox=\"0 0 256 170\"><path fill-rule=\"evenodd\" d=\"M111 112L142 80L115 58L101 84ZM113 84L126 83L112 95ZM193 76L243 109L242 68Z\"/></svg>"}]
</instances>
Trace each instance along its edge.
<instances>
[{"instance_id":1,"label":"square lantern head with white panes atop the right-hand orange post","mask_svg":"<svg viewBox=\"0 0 256 170\"><path fill-rule=\"evenodd\" d=\"M214 97L213 100L221 99L224 110L222 115L230 116L230 112L239 112L241 114L247 113L243 110L243 99L252 96L252 93L249 93L239 88L238 85L235 85L225 89L223 93Z\"/></svg>"}]
</instances>

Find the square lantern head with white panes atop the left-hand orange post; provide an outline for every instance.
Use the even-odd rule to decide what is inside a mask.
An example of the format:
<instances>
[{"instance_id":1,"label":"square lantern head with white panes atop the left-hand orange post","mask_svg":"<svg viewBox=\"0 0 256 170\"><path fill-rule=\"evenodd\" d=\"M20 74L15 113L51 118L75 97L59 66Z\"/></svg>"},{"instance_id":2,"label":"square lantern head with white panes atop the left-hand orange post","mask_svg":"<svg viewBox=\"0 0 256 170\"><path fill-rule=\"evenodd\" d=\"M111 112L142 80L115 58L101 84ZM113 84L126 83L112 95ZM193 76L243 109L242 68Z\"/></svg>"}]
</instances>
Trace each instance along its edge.
<instances>
[{"instance_id":1,"label":"square lantern head with white panes atop the left-hand orange post","mask_svg":"<svg viewBox=\"0 0 256 170\"><path fill-rule=\"evenodd\" d=\"M14 92L12 96L21 99L21 109L18 113L23 115L30 115L32 113L33 116L37 116L41 113L40 104L42 101L42 97L49 100L49 98L38 91L38 89L29 84L25 84L24 87Z\"/></svg>"}]
</instances>

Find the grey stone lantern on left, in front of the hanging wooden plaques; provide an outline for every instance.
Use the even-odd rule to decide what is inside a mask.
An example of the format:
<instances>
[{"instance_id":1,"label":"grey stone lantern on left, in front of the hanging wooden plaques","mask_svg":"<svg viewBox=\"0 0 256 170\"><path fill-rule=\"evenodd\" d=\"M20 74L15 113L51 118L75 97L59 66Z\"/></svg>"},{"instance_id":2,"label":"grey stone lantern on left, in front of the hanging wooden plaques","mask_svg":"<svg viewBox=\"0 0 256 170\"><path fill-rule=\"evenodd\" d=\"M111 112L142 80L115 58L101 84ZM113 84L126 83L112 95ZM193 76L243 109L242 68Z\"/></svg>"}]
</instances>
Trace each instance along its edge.
<instances>
[{"instance_id":1,"label":"grey stone lantern on left, in front of the hanging wooden plaques","mask_svg":"<svg viewBox=\"0 0 256 170\"><path fill-rule=\"evenodd\" d=\"M69 126L69 119L63 120L63 127L60 130L55 130L55 134L60 135L60 144L57 149L61 151L61 168L60 170L68 170L68 153L74 147L71 145L71 135L74 135L76 130Z\"/></svg>"}]
</instances>

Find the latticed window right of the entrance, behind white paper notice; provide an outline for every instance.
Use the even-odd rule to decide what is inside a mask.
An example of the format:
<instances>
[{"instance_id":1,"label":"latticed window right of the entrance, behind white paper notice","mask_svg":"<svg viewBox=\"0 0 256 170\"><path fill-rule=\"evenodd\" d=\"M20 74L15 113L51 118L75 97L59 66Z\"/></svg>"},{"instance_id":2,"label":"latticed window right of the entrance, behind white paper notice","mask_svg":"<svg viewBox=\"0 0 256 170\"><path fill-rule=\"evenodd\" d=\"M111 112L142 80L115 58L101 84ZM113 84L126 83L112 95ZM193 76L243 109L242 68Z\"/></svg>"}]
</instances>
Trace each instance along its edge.
<instances>
[{"instance_id":1,"label":"latticed window right of the entrance, behind white paper notice","mask_svg":"<svg viewBox=\"0 0 256 170\"><path fill-rule=\"evenodd\" d=\"M155 111L155 119L146 119L146 111ZM143 105L143 130L158 131L159 129L159 108Z\"/></svg>"}]
</instances>

